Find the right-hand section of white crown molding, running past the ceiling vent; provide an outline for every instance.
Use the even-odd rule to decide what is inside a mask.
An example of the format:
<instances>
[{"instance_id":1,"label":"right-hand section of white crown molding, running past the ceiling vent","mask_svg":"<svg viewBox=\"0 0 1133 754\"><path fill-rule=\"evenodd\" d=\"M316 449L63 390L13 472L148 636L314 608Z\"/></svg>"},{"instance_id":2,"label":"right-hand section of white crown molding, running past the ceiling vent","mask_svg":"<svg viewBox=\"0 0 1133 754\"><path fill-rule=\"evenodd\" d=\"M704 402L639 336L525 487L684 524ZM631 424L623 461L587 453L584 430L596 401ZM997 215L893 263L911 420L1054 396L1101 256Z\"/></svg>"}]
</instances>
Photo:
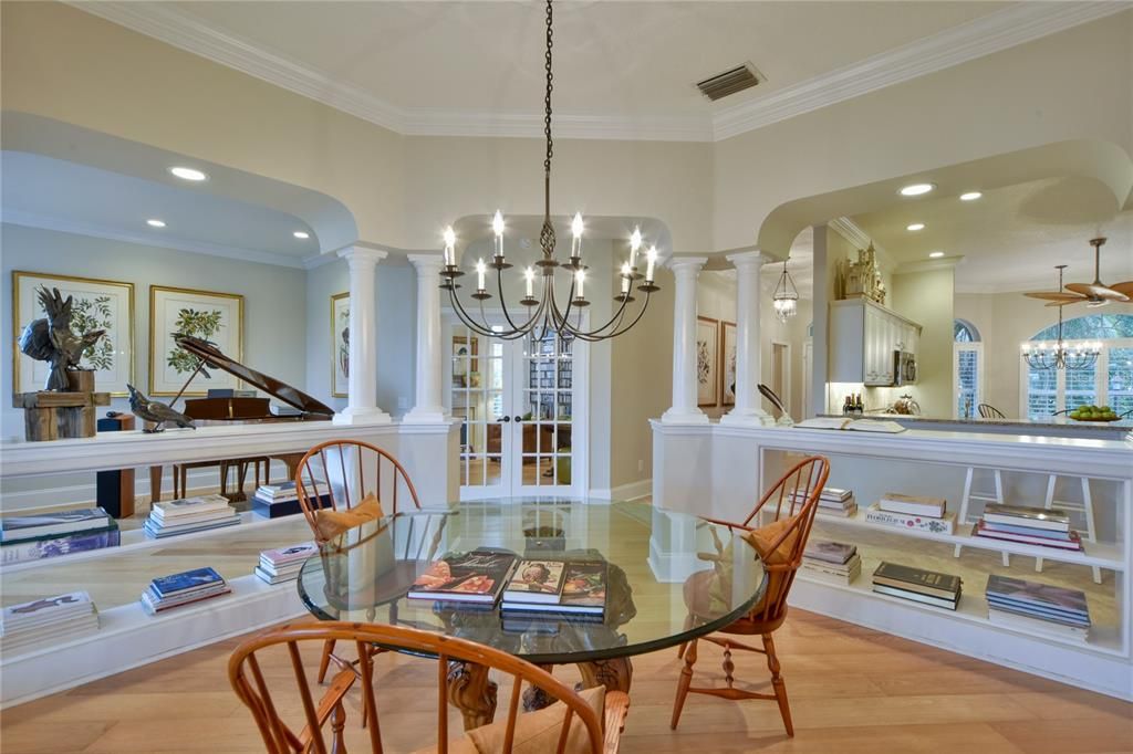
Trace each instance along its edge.
<instances>
[{"instance_id":1,"label":"right-hand section of white crown molding, running past the ceiling vent","mask_svg":"<svg viewBox=\"0 0 1133 754\"><path fill-rule=\"evenodd\" d=\"M713 139L739 136L1131 8L1133 3L1124 0L1017 2L766 97L718 110Z\"/></svg>"}]
</instances>

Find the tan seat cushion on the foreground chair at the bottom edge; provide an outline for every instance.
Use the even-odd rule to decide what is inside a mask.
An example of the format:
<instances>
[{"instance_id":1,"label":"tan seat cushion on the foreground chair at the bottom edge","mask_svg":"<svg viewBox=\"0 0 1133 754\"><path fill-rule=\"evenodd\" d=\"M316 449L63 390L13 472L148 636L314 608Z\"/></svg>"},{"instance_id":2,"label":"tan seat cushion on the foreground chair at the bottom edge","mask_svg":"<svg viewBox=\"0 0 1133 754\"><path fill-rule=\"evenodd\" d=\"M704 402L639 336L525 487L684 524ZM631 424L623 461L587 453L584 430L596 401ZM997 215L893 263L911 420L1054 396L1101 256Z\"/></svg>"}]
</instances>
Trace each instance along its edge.
<instances>
[{"instance_id":1,"label":"tan seat cushion on the foreground chair at the bottom edge","mask_svg":"<svg viewBox=\"0 0 1133 754\"><path fill-rule=\"evenodd\" d=\"M603 720L605 716L604 686L585 688L579 692L586 703ZM566 705L555 702L548 708L536 712L523 712L516 717L516 736L512 739L512 754L553 754L562 735L563 719ZM492 722L479 728L472 728L463 736L449 742L449 754L499 754L503 751L508 738L508 720ZM437 747L421 748L414 754L432 754ZM590 738L586 725L577 716L571 716L570 732L566 734L566 754L590 754Z\"/></svg>"}]
</instances>

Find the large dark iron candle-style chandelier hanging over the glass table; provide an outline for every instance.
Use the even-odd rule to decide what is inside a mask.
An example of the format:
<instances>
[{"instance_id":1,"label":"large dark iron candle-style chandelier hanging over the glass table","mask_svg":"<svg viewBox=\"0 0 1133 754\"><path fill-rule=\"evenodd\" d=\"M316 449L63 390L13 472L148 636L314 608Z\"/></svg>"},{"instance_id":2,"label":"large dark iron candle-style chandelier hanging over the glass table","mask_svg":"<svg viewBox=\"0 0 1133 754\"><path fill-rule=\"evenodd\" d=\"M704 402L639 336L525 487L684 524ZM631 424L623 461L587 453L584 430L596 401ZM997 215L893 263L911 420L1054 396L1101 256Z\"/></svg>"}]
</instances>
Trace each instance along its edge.
<instances>
[{"instance_id":1,"label":"large dark iron candle-style chandelier hanging over the glass table","mask_svg":"<svg viewBox=\"0 0 1133 754\"><path fill-rule=\"evenodd\" d=\"M534 333L537 339L543 340L548 333L557 333L560 337L568 341L574 339L590 342L603 341L621 335L633 327L649 307L650 294L661 290L654 281L657 247L651 246L646 251L646 272L642 275L638 272L638 256L641 251L641 231L634 229L633 234L630 237L629 259L622 265L619 274L619 277L621 277L621 292L614 297L617 308L613 312L613 316L599 327L585 329L582 326L582 310L590 306L590 301L585 295L586 271L589 267L582 264L582 231L585 230L582 215L576 213L571 222L573 238L570 259L566 263L560 263L555 259L555 229L551 222L551 158L554 155L554 142L551 138L551 91L553 88L552 79L554 78L551 70L551 51L554 36L551 1L547 0L547 51L546 63L544 66L546 69L546 96L544 97L545 114L543 119L543 132L546 136L547 149L546 157L543 161L543 230L539 231L539 247L543 250L543 256L535 262L534 267L528 267L523 271L526 294L519 300L519 303L525 307L526 311L522 316L514 316L508 309L508 301L504 297L503 271L509 269L512 265L504 258L504 222L500 211L496 211L495 217L492 220L492 230L495 233L492 260L485 263L484 259L479 259L476 263L476 292L471 294L471 298L477 301L477 305L471 306L479 307L479 318L475 318L468 312L468 309L461 303L460 297L457 294L457 289L461 288L457 283L457 279L463 276L465 272L457 265L457 235L451 226L444 231L444 266L441 269L441 288L449 291L449 300L460 320L472 332L486 337L516 340L528 333ZM495 271L495 289L500 297L503 319L506 323L504 326L493 327L488 323L487 312L485 311L484 302L493 298L492 293L487 291L487 281L485 280L489 274L487 272L489 267ZM570 290L566 295L565 306L561 305L555 297L555 272L560 268L566 271L570 276ZM542 277L538 284L536 284L537 277ZM629 305L637 300L633 297L633 286L636 283L637 290L644 293L645 298L637 314L629 316ZM538 288L538 297L536 297L536 288ZM573 320L571 319L572 314L576 315Z\"/></svg>"}]
</instances>

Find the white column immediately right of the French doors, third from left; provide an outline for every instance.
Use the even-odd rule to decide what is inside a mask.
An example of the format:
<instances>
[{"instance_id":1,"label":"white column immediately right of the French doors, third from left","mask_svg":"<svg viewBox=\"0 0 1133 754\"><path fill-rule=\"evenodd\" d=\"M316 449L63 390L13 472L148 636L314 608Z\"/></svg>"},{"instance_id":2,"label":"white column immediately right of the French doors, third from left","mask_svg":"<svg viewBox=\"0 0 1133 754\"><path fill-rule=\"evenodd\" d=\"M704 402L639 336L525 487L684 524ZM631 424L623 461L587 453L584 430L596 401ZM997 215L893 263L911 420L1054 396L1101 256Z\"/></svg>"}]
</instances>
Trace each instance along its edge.
<instances>
[{"instance_id":1,"label":"white column immediately right of the French doors, third from left","mask_svg":"<svg viewBox=\"0 0 1133 754\"><path fill-rule=\"evenodd\" d=\"M674 257L668 262L676 277L673 302L673 405L662 414L666 425L704 425L697 408L697 276L706 257Z\"/></svg>"}]
</instances>

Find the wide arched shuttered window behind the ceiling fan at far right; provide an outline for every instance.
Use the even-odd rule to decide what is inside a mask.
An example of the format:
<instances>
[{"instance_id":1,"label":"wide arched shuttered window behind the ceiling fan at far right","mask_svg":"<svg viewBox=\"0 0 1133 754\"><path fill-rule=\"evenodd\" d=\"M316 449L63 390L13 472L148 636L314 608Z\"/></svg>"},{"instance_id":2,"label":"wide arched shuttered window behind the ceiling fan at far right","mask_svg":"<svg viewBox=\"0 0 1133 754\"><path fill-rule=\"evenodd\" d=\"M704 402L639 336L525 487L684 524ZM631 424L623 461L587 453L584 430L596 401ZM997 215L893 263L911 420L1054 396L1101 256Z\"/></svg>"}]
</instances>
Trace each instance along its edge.
<instances>
[{"instance_id":1,"label":"wide arched shuttered window behind the ceiling fan at far right","mask_svg":"<svg viewBox=\"0 0 1133 754\"><path fill-rule=\"evenodd\" d=\"M1037 332L1032 341L1058 339L1058 326ZM1073 411L1080 405L1133 410L1133 315L1090 314L1063 322L1064 341L1099 341L1101 354L1090 369L1031 369L1023 366L1022 391L1029 419Z\"/></svg>"}]
</instances>

